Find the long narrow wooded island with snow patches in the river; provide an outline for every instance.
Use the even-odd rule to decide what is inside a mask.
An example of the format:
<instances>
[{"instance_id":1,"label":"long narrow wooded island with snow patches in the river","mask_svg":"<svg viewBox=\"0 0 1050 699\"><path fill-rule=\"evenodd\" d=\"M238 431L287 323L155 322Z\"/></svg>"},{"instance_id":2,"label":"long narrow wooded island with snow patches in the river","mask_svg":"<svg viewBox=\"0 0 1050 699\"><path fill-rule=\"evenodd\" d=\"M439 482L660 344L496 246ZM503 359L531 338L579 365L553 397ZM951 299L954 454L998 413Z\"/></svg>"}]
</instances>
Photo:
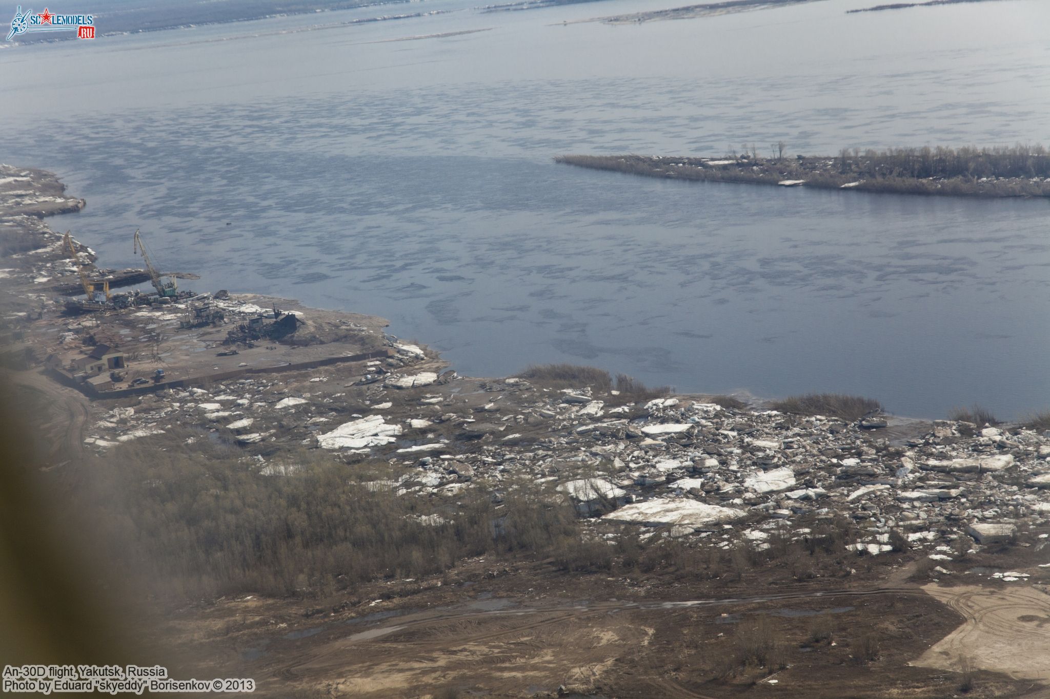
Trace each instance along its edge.
<instances>
[{"instance_id":1,"label":"long narrow wooded island with snow patches in the river","mask_svg":"<svg viewBox=\"0 0 1050 699\"><path fill-rule=\"evenodd\" d=\"M1050 152L1013 148L843 149L836 156L795 155L783 144L770 157L560 155L555 162L594 170L719 182L971 197L1050 197Z\"/></svg>"}]
</instances>

